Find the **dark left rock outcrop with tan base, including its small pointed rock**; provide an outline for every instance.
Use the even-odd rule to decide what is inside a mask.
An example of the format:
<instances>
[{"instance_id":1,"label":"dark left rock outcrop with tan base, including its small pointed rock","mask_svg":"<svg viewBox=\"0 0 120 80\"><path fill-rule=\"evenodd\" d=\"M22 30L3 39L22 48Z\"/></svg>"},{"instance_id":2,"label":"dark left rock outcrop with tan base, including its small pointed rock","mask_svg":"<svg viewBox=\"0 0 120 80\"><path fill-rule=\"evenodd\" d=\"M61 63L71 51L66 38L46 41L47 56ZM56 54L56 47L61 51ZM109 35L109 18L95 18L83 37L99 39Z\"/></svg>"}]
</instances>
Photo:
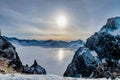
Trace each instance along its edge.
<instances>
[{"instance_id":1,"label":"dark left rock outcrop with tan base, including its small pointed rock","mask_svg":"<svg viewBox=\"0 0 120 80\"><path fill-rule=\"evenodd\" d=\"M29 74L46 74L43 67L39 66L37 62L29 68L22 65L22 62L15 50L15 47L0 36L0 73L29 73ZM36 73L35 73L36 71Z\"/></svg>"}]
</instances>

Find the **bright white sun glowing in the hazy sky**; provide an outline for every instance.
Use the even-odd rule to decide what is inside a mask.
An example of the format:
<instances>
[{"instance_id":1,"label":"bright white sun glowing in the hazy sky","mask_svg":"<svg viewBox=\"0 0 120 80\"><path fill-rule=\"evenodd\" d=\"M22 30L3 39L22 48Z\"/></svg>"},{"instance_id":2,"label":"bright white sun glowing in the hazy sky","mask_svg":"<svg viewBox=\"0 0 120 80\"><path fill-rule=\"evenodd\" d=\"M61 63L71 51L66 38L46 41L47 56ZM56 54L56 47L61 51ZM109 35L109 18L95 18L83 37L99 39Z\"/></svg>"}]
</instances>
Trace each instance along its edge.
<instances>
[{"instance_id":1,"label":"bright white sun glowing in the hazy sky","mask_svg":"<svg viewBox=\"0 0 120 80\"><path fill-rule=\"evenodd\" d=\"M60 15L56 18L56 24L60 26L60 28L65 28L67 26L67 18L64 15Z\"/></svg>"}]
</instances>

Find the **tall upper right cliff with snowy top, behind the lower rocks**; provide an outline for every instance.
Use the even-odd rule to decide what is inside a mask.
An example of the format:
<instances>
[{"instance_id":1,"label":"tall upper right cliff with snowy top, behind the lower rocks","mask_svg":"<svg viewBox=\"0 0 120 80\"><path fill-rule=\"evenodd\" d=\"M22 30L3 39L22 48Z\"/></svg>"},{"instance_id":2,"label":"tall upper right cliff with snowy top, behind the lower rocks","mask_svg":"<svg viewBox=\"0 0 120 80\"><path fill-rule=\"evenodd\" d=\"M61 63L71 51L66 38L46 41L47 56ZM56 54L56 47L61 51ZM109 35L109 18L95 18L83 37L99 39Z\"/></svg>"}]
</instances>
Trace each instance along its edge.
<instances>
[{"instance_id":1,"label":"tall upper right cliff with snowy top, behind the lower rocks","mask_svg":"<svg viewBox=\"0 0 120 80\"><path fill-rule=\"evenodd\" d=\"M120 59L120 18L110 18L102 29L87 39L86 46L100 58Z\"/></svg>"}]
</instances>

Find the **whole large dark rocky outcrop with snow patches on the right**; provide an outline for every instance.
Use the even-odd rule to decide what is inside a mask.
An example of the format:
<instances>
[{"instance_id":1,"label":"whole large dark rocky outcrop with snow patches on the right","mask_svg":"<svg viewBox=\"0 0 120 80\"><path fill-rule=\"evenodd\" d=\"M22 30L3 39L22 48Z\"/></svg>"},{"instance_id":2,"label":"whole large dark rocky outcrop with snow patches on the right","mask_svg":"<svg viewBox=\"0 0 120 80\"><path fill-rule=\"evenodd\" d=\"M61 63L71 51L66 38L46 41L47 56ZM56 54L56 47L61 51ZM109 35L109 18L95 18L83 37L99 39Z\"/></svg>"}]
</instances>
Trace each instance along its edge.
<instances>
[{"instance_id":1,"label":"whole large dark rocky outcrop with snow patches on the right","mask_svg":"<svg viewBox=\"0 0 120 80\"><path fill-rule=\"evenodd\" d=\"M85 48L89 51L84 51L82 48L78 49L72 62L68 65L64 76L80 77L78 75L82 75L81 77L88 78L119 77L120 17L108 19L106 25L103 26L100 31L87 39ZM91 51L97 53L94 59L91 59L93 57L90 56ZM85 55L89 55L90 57L84 58ZM98 59L98 62L96 59ZM92 69L91 66L89 69L89 66L87 66L88 64L92 65Z\"/></svg>"}]
</instances>

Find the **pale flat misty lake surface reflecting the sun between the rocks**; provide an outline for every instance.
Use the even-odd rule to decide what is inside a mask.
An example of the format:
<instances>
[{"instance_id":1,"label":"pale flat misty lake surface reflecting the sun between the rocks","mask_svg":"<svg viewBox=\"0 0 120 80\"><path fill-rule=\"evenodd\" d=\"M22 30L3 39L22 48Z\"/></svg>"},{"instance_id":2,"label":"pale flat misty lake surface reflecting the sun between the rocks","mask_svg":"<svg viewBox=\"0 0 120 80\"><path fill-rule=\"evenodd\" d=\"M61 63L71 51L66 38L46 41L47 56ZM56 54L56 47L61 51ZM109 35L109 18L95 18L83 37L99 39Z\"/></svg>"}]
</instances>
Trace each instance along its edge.
<instances>
[{"instance_id":1,"label":"pale flat misty lake surface reflecting the sun between the rocks","mask_svg":"<svg viewBox=\"0 0 120 80\"><path fill-rule=\"evenodd\" d=\"M71 62L74 51L68 48L42 48L38 46L14 45L23 63L31 66L34 60L46 69L47 74L62 76Z\"/></svg>"}]
</instances>

